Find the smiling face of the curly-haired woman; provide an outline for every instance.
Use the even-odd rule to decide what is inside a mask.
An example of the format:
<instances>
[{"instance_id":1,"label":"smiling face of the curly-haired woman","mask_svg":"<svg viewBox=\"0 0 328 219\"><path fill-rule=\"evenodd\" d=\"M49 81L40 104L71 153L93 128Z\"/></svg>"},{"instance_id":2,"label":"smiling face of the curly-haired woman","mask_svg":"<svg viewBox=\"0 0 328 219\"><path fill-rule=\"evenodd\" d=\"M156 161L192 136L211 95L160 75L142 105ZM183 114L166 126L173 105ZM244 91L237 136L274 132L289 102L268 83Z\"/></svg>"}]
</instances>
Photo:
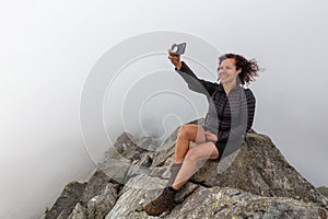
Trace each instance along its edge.
<instances>
[{"instance_id":1,"label":"smiling face of the curly-haired woman","mask_svg":"<svg viewBox=\"0 0 328 219\"><path fill-rule=\"evenodd\" d=\"M242 69L236 70L234 58L227 58L223 60L219 67L219 78L222 84L235 83L236 78L241 72Z\"/></svg>"}]
</instances>

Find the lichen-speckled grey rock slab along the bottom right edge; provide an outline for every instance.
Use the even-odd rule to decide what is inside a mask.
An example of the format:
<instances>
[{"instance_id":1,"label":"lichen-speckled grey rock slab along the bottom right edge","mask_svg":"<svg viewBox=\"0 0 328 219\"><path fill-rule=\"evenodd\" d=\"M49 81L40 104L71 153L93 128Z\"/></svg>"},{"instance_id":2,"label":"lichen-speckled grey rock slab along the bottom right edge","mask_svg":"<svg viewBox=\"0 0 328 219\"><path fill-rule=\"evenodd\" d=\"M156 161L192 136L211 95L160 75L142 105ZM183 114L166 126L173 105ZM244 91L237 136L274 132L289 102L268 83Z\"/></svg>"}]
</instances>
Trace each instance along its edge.
<instances>
[{"instance_id":1,"label":"lichen-speckled grey rock slab along the bottom right edge","mask_svg":"<svg viewBox=\"0 0 328 219\"><path fill-rule=\"evenodd\" d=\"M261 197L229 187L200 187L174 208L176 218L327 218L327 210L292 198Z\"/></svg>"}]
</instances>

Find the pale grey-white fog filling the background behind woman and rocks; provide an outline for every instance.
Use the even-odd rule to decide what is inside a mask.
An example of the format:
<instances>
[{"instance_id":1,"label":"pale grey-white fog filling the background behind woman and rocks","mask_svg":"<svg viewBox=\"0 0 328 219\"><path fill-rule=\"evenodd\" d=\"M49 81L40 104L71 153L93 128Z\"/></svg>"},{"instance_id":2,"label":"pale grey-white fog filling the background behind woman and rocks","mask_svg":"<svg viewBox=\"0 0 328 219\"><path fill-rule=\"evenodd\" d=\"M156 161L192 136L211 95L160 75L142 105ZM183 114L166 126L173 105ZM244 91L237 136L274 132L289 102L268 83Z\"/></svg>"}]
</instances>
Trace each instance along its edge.
<instances>
[{"instance_id":1,"label":"pale grey-white fog filling the background behind woman and rocks","mask_svg":"<svg viewBox=\"0 0 328 219\"><path fill-rule=\"evenodd\" d=\"M67 183L92 174L121 130L163 139L173 127L204 115L204 99L187 90L166 59L175 36L187 42L184 60L208 80L215 80L220 53L256 58L266 70L249 85L257 99L254 129L268 135L315 186L328 184L328 3L198 2L1 2L0 218L42 217ZM133 43L147 33L162 35ZM128 43L129 53L113 50ZM202 44L208 53L199 49ZM136 59L143 48L154 54ZM115 83L104 65L110 60L120 65ZM108 77L103 87L89 87L97 69ZM86 92L92 89L95 93ZM91 99L96 92L102 96ZM118 93L125 102L116 102ZM87 112L92 103L85 100L99 101L102 115ZM124 123L115 120L117 113Z\"/></svg>"}]
</instances>

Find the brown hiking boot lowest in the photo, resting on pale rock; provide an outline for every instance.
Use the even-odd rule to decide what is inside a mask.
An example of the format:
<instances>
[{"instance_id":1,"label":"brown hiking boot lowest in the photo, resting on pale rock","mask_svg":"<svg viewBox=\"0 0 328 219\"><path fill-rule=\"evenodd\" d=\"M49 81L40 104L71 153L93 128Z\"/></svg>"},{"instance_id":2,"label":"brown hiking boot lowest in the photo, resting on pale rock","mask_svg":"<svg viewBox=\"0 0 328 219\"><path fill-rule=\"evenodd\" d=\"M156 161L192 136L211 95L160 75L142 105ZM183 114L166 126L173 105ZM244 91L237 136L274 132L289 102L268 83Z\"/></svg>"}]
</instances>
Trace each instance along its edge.
<instances>
[{"instance_id":1,"label":"brown hiking boot lowest in the photo, resting on pale rock","mask_svg":"<svg viewBox=\"0 0 328 219\"><path fill-rule=\"evenodd\" d=\"M165 187L163 193L155 200L144 206L144 211L150 216L160 216L165 210L173 208L175 205L175 191Z\"/></svg>"}]
</instances>

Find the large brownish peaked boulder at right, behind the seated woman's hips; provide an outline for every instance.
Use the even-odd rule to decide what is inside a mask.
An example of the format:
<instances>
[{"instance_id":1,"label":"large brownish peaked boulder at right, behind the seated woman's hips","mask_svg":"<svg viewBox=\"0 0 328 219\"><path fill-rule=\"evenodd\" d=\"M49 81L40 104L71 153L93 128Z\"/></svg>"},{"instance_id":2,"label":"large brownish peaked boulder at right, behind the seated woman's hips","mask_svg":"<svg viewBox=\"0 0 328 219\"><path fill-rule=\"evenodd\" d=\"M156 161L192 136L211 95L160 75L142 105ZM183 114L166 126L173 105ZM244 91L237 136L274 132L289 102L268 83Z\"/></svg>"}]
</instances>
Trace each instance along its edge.
<instances>
[{"instance_id":1,"label":"large brownish peaked boulder at right, behind the seated woman's hips","mask_svg":"<svg viewBox=\"0 0 328 219\"><path fill-rule=\"evenodd\" d=\"M221 163L208 161L192 177L202 185L230 186L261 196L291 197L316 203L327 208L325 197L283 158L269 137L247 134L239 151L225 159L230 165L221 171Z\"/></svg>"}]
</instances>

